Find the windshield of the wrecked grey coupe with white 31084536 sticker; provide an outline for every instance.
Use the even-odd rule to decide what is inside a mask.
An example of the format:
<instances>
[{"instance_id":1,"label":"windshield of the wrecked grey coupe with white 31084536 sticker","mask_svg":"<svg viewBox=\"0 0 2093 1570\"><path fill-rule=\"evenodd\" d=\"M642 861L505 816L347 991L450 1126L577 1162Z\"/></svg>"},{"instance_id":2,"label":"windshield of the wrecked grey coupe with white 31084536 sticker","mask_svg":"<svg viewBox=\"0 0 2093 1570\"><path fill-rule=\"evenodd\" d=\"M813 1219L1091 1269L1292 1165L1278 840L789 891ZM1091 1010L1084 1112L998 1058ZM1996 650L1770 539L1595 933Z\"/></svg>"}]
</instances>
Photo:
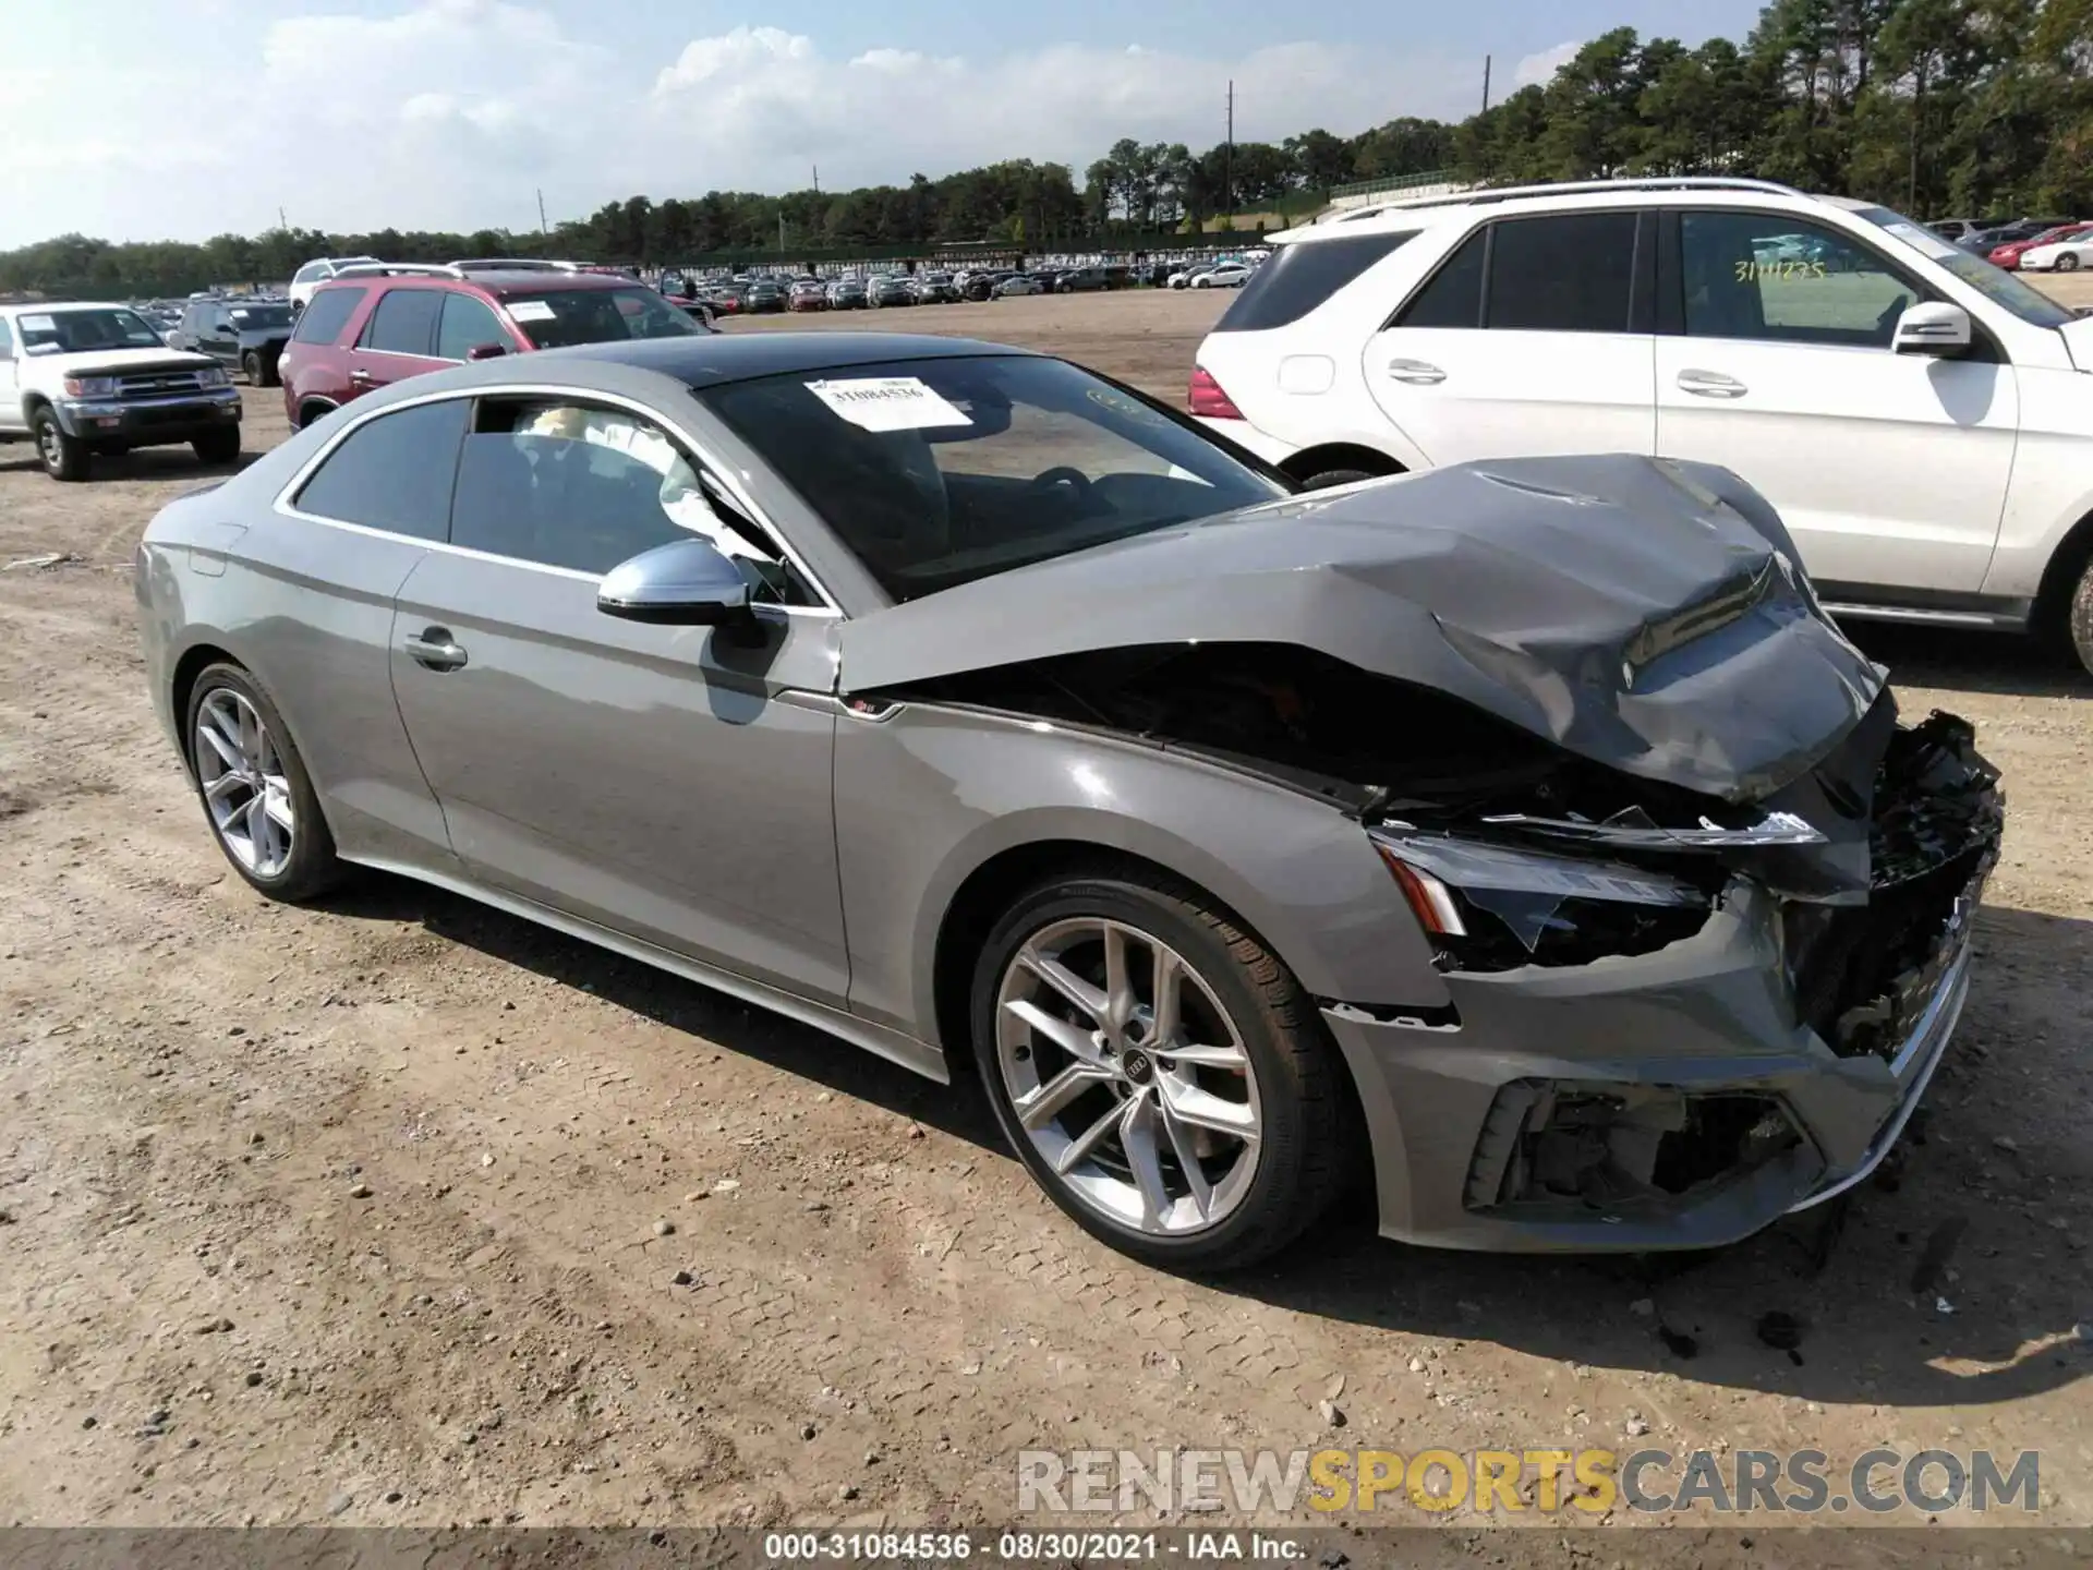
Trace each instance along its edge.
<instances>
[{"instance_id":1,"label":"windshield of the wrecked grey coupe with white 31084536 sticker","mask_svg":"<svg viewBox=\"0 0 2093 1570\"><path fill-rule=\"evenodd\" d=\"M894 601L1287 494L1065 360L896 360L699 398Z\"/></svg>"}]
</instances>

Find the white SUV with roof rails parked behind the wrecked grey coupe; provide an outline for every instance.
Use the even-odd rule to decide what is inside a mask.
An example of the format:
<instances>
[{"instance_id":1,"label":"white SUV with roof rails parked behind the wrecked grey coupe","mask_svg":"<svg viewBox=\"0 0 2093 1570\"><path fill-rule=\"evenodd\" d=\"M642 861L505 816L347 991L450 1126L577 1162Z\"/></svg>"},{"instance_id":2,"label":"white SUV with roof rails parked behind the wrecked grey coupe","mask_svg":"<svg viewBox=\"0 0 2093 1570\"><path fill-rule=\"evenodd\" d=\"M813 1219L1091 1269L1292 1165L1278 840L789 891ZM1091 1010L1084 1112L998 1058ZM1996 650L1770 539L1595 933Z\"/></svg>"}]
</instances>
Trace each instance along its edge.
<instances>
[{"instance_id":1,"label":"white SUV with roof rails parked behind the wrecked grey coupe","mask_svg":"<svg viewBox=\"0 0 2093 1570\"><path fill-rule=\"evenodd\" d=\"M1476 190L1277 237L1189 406L1296 479L1647 452L1733 469L1840 615L2070 632L2093 670L2093 320L1762 180Z\"/></svg>"}]
</instances>

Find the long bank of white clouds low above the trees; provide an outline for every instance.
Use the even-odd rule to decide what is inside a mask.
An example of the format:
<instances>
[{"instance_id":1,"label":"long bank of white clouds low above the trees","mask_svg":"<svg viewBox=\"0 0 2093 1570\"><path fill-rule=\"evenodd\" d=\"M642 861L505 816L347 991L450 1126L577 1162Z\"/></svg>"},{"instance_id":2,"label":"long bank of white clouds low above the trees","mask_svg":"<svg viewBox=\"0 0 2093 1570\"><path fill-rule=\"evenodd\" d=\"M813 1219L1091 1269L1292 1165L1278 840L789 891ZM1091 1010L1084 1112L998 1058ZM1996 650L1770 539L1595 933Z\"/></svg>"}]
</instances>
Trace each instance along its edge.
<instances>
[{"instance_id":1,"label":"long bank of white clouds low above the trees","mask_svg":"<svg viewBox=\"0 0 2093 1570\"><path fill-rule=\"evenodd\" d=\"M29 82L0 159L0 247L65 230L253 232L278 207L329 230L527 228L538 190L561 218L634 193L800 188L810 165L825 188L1007 157L1072 163L1080 180L1120 136L1220 140L1231 80L1241 140L1459 115L1469 94L1465 63L1314 42L1239 57L1063 44L846 59L741 25L668 61L632 59L565 33L530 0L278 21L251 73L234 75L239 98L197 115L167 113L195 98L176 67L117 80L80 63L63 90ZM90 138L63 111L80 98L100 105Z\"/></svg>"}]
</instances>

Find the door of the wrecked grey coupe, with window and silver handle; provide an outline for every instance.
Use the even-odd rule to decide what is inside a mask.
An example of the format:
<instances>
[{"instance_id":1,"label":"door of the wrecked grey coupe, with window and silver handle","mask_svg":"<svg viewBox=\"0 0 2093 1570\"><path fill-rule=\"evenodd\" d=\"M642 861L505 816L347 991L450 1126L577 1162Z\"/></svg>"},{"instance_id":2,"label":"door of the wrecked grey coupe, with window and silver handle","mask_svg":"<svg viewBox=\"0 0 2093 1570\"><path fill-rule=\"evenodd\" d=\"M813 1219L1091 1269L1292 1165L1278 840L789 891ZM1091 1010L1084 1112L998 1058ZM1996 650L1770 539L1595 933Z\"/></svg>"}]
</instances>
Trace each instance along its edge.
<instances>
[{"instance_id":1,"label":"door of the wrecked grey coupe, with window and silver handle","mask_svg":"<svg viewBox=\"0 0 2093 1570\"><path fill-rule=\"evenodd\" d=\"M609 567L691 532L749 563L749 643L597 609ZM833 613L605 402L483 398L450 542L400 590L393 689L471 875L841 1007Z\"/></svg>"}]
</instances>

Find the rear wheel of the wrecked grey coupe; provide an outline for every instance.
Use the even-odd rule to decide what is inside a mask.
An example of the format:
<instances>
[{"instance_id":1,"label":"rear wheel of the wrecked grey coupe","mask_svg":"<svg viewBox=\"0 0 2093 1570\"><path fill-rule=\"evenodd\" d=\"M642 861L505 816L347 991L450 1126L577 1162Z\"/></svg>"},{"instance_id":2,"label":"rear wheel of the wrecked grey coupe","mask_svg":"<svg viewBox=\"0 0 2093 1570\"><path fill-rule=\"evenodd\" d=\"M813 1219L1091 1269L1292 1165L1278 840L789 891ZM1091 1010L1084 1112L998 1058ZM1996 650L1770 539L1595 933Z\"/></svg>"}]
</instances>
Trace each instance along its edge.
<instances>
[{"instance_id":1,"label":"rear wheel of the wrecked grey coupe","mask_svg":"<svg viewBox=\"0 0 2093 1570\"><path fill-rule=\"evenodd\" d=\"M211 837L251 888L310 900L341 881L306 764L276 705L239 666L209 666L190 689L188 756Z\"/></svg>"}]
</instances>

